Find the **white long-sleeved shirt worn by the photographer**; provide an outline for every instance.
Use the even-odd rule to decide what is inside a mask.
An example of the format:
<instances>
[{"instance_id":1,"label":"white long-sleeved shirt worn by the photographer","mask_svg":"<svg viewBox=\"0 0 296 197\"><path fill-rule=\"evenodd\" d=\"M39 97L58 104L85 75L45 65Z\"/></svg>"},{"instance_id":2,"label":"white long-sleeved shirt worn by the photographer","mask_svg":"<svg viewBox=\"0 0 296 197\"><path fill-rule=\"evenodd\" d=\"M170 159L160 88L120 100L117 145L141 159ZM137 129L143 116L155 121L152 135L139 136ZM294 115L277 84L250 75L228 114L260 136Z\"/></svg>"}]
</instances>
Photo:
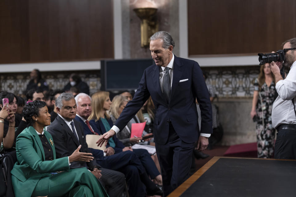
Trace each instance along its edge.
<instances>
[{"instance_id":1,"label":"white long-sleeved shirt worn by the photographer","mask_svg":"<svg viewBox=\"0 0 296 197\"><path fill-rule=\"evenodd\" d=\"M280 80L275 85L278 97L273 102L271 121L272 127L276 128L280 124L296 124L294 104L296 104L296 61L292 64L286 79Z\"/></svg>"}]
</instances>

